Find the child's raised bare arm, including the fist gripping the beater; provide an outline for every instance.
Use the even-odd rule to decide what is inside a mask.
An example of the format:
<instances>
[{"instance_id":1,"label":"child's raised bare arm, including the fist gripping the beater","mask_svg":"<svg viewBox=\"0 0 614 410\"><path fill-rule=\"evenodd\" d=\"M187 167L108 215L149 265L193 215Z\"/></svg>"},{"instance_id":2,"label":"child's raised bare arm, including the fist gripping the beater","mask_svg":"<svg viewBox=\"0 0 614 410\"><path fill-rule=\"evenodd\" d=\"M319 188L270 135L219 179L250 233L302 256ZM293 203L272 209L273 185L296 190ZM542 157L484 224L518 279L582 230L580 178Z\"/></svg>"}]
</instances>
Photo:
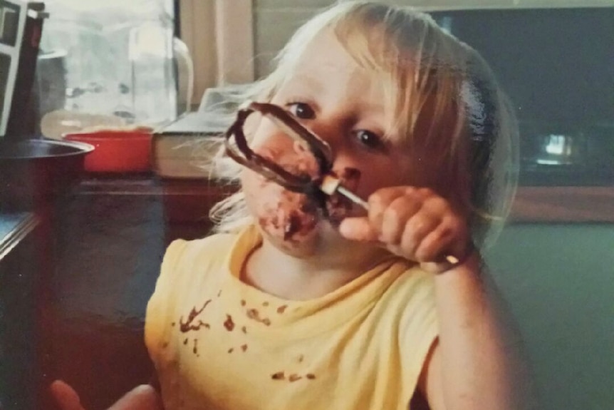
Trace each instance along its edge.
<instances>
[{"instance_id":1,"label":"child's raised bare arm, including the fist gripping the beater","mask_svg":"<svg viewBox=\"0 0 614 410\"><path fill-rule=\"evenodd\" d=\"M379 242L435 273L439 338L420 381L431 409L527 409L518 401L526 392L516 386L515 339L504 334L480 277L464 215L428 189L385 188L368 201L368 217L344 220L342 235Z\"/></svg>"}]
</instances>

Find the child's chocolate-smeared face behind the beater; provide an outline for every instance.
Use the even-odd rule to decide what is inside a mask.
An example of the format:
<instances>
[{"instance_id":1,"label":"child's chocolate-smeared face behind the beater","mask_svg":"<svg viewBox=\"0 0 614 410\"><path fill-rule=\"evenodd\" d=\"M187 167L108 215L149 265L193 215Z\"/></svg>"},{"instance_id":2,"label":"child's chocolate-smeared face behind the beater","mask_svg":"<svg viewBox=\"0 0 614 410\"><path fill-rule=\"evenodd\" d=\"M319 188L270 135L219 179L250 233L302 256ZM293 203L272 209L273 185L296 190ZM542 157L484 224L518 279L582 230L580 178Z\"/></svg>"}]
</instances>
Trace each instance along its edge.
<instances>
[{"instance_id":1,"label":"child's chocolate-smeared face behind the beater","mask_svg":"<svg viewBox=\"0 0 614 410\"><path fill-rule=\"evenodd\" d=\"M406 149L393 142L398 138L383 138L387 117L381 78L360 67L332 32L308 46L271 103L286 108L331 145L335 173L360 172L350 188L362 198L378 188L412 183ZM311 157L269 120L259 121L254 129L252 146L257 153L293 172L317 175ZM321 220L305 195L283 190L250 170L244 171L241 182L249 210L265 236L284 249L309 254L323 235L331 235L326 232L335 232L323 229L331 224Z\"/></svg>"}]
</instances>

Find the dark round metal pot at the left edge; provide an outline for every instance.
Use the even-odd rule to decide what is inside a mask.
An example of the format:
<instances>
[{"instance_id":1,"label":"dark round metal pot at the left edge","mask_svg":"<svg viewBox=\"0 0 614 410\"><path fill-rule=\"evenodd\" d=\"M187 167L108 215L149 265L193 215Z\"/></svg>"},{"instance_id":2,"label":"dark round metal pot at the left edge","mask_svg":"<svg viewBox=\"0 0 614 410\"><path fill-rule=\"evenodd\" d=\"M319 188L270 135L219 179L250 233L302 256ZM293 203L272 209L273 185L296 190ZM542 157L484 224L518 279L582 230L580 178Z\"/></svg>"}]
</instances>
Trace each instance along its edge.
<instances>
[{"instance_id":1,"label":"dark round metal pot at the left edge","mask_svg":"<svg viewBox=\"0 0 614 410\"><path fill-rule=\"evenodd\" d=\"M94 147L55 140L0 142L0 210L28 210L51 203L83 175Z\"/></svg>"}]
</instances>

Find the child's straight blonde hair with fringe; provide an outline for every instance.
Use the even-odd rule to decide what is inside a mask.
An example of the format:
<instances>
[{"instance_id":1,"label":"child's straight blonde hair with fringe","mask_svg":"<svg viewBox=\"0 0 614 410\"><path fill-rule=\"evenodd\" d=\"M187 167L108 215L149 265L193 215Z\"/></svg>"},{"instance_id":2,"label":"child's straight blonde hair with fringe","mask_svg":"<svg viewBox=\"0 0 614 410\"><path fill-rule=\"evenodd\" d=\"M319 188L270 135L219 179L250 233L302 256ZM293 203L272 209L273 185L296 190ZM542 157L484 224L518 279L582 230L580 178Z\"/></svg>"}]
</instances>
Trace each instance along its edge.
<instances>
[{"instance_id":1,"label":"child's straight blonde hair with fringe","mask_svg":"<svg viewBox=\"0 0 614 410\"><path fill-rule=\"evenodd\" d=\"M417 166L437 170L421 173L425 185L467 210L477 245L498 232L516 187L514 113L479 54L427 14L338 1L303 24L274 60L274 71L242 97L271 101L306 47L326 30L360 66L382 76L387 138L400 138ZM214 173L235 180L239 167L221 156ZM218 231L251 222L241 191L210 216Z\"/></svg>"}]
</instances>

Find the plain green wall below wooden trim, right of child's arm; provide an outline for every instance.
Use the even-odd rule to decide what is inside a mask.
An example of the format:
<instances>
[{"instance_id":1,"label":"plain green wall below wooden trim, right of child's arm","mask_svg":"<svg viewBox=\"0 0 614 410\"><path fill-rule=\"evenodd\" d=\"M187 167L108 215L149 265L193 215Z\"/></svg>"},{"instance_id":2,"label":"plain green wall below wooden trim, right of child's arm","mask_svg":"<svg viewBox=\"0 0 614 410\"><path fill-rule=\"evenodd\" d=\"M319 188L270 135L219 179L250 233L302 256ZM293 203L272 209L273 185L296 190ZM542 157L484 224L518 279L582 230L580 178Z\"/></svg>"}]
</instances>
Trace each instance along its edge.
<instances>
[{"instance_id":1,"label":"plain green wall below wooden trim, right of child's arm","mask_svg":"<svg viewBox=\"0 0 614 410\"><path fill-rule=\"evenodd\" d=\"M542 410L614 409L614 225L510 225L486 253Z\"/></svg>"}]
</instances>

